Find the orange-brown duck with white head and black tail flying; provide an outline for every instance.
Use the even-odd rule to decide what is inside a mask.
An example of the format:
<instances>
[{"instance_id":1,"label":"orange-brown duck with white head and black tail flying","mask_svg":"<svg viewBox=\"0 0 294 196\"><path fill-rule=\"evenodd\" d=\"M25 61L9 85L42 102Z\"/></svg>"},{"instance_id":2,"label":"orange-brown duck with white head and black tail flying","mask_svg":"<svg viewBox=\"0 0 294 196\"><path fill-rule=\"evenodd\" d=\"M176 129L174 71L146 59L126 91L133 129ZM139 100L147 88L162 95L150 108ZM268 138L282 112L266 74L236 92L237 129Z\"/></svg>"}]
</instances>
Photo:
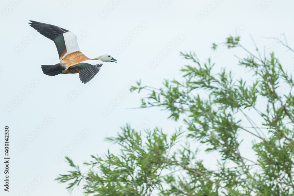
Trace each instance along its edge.
<instances>
[{"instance_id":1,"label":"orange-brown duck with white head and black tail flying","mask_svg":"<svg viewBox=\"0 0 294 196\"><path fill-rule=\"evenodd\" d=\"M86 57L78 47L76 35L69 30L36 21L31 21L29 24L46 38L54 41L56 45L60 63L41 66L43 73L48 76L56 76L60 73L79 73L81 82L87 83L98 73L103 62L116 63L117 61L108 54L97 58Z\"/></svg>"}]
</instances>

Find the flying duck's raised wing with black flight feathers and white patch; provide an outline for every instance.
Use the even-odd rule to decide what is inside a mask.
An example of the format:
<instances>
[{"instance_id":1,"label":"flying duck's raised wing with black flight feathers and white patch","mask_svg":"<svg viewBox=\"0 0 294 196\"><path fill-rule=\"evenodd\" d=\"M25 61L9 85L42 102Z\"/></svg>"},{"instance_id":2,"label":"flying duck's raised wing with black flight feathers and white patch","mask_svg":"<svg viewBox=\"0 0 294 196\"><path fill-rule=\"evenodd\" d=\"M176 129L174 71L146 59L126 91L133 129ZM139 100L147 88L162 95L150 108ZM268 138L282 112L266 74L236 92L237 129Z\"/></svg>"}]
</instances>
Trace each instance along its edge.
<instances>
[{"instance_id":1,"label":"flying duck's raised wing with black flight feathers and white patch","mask_svg":"<svg viewBox=\"0 0 294 196\"><path fill-rule=\"evenodd\" d=\"M31 21L31 20L30 20ZM78 47L77 37L69 30L54 26L51 24L31 21L30 26L39 33L54 41L59 58L75 51L80 51Z\"/></svg>"}]
</instances>

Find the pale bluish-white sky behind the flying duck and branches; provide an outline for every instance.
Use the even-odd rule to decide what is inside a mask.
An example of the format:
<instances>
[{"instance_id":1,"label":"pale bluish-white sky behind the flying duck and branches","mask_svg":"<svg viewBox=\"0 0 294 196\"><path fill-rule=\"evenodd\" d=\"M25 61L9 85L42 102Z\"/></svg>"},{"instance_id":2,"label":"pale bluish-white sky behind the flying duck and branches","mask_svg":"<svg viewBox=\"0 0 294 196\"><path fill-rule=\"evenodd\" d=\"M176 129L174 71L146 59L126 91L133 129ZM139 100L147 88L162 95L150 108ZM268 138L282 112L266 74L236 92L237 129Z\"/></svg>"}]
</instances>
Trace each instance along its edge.
<instances>
[{"instance_id":1,"label":"pale bluish-white sky behind the flying duck and branches","mask_svg":"<svg viewBox=\"0 0 294 196\"><path fill-rule=\"evenodd\" d=\"M214 53L211 43L221 43L232 33L240 35L240 43L251 51L254 45L249 34L260 48L274 43L262 36L282 33L293 46L293 7L294 2L286 0L2 0L0 159L4 160L6 125L11 157L10 187L5 195L70 195L66 184L54 179L71 168L64 159L56 158L72 148L68 156L81 166L91 160L90 155L102 155L107 148L115 153L117 146L104 138L115 136L126 123L139 128L145 122L146 128L158 126L170 134L181 125L185 130L181 121L167 120L169 113L159 108L128 109L140 106L146 96L146 92L129 93L129 87L140 79L153 87L161 87L164 78L180 79L181 66L193 65L179 56L180 51L195 51L204 62ZM107 8L110 11L106 12ZM118 62L104 63L87 85L80 82L78 74L47 76L41 65L56 64L58 53L53 41L34 31L29 20L75 33L81 52L89 58L111 54ZM293 54L281 45L270 51L292 70ZM237 78L248 78L234 54L246 56L240 49L224 49L213 58L216 71L227 68ZM113 108L117 99L120 101ZM7 110L9 106L11 110ZM108 106L111 111L103 113ZM240 134L245 140L243 153L250 155L246 151L250 138ZM23 143L26 146L20 149ZM35 182L38 184L29 188ZM0 195L4 195L1 187Z\"/></svg>"}]
</instances>

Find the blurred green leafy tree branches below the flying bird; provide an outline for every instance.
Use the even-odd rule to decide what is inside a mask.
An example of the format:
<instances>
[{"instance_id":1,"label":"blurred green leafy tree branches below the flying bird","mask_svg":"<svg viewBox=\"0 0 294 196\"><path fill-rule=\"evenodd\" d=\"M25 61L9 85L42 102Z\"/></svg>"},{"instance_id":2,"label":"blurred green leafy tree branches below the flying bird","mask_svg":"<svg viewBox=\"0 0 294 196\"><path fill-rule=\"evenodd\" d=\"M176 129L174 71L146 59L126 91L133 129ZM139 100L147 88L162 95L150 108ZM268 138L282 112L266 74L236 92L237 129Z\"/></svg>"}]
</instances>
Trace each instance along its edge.
<instances>
[{"instance_id":1,"label":"blurred green leafy tree branches below the flying bird","mask_svg":"<svg viewBox=\"0 0 294 196\"><path fill-rule=\"evenodd\" d=\"M195 54L181 53L192 63L181 69L181 81L165 80L158 89L138 82L132 88L150 91L142 108L159 107L183 120L187 137L181 129L168 136L159 128L138 133L127 125L107 138L121 146L119 153L92 155L84 174L67 158L72 170L56 180L68 188L82 182L90 195L294 195L293 76L274 53L260 55L256 46L251 53L239 42L229 37L226 45L248 53L239 65L250 70L250 80L235 79L225 69L213 73L210 59L201 63ZM240 133L250 135L255 155L241 154ZM176 145L180 140L189 142ZM195 150L199 143L207 153L218 153L217 169L203 164L205 157Z\"/></svg>"}]
</instances>

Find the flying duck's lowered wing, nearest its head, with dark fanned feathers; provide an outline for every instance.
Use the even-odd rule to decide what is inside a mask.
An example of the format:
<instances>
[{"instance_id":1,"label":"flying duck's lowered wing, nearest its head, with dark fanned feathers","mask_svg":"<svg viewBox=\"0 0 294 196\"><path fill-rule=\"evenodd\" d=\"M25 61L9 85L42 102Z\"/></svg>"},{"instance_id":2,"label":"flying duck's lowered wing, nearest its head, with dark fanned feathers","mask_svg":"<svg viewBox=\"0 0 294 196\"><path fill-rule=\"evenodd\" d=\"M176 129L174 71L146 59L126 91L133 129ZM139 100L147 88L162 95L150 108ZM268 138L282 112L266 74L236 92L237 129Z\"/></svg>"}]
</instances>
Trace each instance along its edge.
<instances>
[{"instance_id":1,"label":"flying duck's lowered wing, nearest its head, with dark fanned feathers","mask_svg":"<svg viewBox=\"0 0 294 196\"><path fill-rule=\"evenodd\" d=\"M101 66L103 64L103 61L98 60L87 60L83 61L81 63L78 63L76 65L71 66L72 67L78 67L80 68L80 79L82 83L87 83L88 81L92 80L94 76L100 71Z\"/></svg>"}]
</instances>

